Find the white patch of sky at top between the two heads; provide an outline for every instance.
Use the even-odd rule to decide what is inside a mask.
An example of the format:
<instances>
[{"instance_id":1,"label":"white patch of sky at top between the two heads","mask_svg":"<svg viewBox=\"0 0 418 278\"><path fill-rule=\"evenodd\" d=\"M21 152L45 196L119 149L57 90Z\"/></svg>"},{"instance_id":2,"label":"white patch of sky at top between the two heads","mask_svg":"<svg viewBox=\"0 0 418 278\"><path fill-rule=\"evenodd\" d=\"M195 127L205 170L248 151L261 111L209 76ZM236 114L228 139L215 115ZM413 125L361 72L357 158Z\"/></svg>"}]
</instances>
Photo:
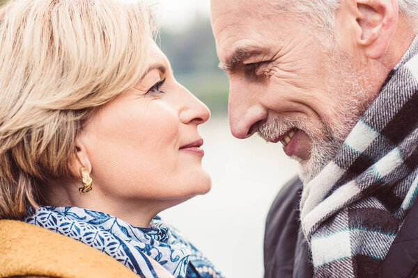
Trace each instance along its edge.
<instances>
[{"instance_id":1,"label":"white patch of sky at top between the two heads","mask_svg":"<svg viewBox=\"0 0 418 278\"><path fill-rule=\"evenodd\" d=\"M161 24L169 30L185 28L196 15L210 16L210 0L157 0L161 5Z\"/></svg>"}]
</instances>

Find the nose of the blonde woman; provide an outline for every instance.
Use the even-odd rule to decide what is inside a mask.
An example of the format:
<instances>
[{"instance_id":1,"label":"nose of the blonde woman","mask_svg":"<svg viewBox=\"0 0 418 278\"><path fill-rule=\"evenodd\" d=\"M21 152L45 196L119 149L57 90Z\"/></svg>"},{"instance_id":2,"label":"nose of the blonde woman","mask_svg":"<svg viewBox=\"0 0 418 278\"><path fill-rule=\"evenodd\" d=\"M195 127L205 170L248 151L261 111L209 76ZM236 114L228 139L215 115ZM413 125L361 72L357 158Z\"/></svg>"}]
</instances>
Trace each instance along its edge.
<instances>
[{"instance_id":1,"label":"nose of the blonde woman","mask_svg":"<svg viewBox=\"0 0 418 278\"><path fill-rule=\"evenodd\" d=\"M194 122L195 124L203 124L210 118L210 110L206 104L203 104L191 92L185 89L184 106L180 111L180 121L183 124Z\"/></svg>"}]
</instances>

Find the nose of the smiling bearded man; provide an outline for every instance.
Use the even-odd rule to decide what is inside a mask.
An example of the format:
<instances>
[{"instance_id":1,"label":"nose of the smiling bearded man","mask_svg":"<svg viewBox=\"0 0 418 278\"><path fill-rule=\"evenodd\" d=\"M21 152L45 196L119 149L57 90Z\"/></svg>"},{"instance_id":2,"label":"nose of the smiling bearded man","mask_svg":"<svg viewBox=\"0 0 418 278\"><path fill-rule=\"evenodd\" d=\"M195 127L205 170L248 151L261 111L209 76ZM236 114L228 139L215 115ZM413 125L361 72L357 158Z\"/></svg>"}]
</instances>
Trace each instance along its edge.
<instances>
[{"instance_id":1,"label":"nose of the smiling bearded man","mask_svg":"<svg viewBox=\"0 0 418 278\"><path fill-rule=\"evenodd\" d=\"M255 94L255 93L254 93ZM251 137L268 117L266 109L251 92L229 92L229 124L231 133L239 139Z\"/></svg>"}]
</instances>

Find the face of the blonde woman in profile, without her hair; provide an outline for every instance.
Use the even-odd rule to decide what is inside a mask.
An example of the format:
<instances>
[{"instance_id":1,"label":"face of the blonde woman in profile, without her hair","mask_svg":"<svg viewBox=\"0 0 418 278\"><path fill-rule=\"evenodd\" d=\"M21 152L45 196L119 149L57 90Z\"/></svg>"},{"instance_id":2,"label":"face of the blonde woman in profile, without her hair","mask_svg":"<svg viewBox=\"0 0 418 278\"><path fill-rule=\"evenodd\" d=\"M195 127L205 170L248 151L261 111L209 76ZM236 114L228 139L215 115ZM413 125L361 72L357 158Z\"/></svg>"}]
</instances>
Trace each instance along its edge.
<instances>
[{"instance_id":1,"label":"face of the blonde woman in profile, without her hair","mask_svg":"<svg viewBox=\"0 0 418 278\"><path fill-rule=\"evenodd\" d=\"M177 83L156 44L147 68L133 90L104 105L86 124L77 144L91 165L91 193L104 202L164 209L210 190L197 129L210 111Z\"/></svg>"}]
</instances>

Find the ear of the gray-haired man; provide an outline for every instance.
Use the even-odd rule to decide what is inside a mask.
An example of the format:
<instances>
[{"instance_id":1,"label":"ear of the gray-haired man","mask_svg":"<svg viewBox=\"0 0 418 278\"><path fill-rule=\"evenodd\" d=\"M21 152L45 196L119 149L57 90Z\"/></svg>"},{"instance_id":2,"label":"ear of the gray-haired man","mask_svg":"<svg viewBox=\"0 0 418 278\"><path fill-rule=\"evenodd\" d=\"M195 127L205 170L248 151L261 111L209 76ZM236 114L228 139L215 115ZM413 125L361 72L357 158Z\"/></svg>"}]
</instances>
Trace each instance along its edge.
<instances>
[{"instance_id":1,"label":"ear of the gray-haired man","mask_svg":"<svg viewBox=\"0 0 418 278\"><path fill-rule=\"evenodd\" d=\"M397 0L354 0L356 2L356 40L367 58L385 54L398 22Z\"/></svg>"}]
</instances>

